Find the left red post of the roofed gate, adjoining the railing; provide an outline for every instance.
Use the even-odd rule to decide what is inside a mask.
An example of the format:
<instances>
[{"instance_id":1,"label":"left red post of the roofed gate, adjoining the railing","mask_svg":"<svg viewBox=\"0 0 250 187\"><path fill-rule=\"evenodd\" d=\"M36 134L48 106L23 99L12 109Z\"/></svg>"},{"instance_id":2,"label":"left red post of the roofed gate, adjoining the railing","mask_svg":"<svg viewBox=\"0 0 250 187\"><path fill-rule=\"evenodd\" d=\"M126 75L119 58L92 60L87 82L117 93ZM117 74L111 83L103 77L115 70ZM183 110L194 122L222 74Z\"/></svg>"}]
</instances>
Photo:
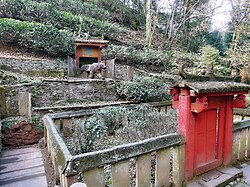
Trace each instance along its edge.
<instances>
[{"instance_id":1,"label":"left red post of the roofed gate, adjoining the railing","mask_svg":"<svg viewBox=\"0 0 250 187\"><path fill-rule=\"evenodd\" d=\"M190 180L194 174L194 119L191 114L190 91L181 89L179 95L178 131L186 140L185 179Z\"/></svg>"}]
</instances>

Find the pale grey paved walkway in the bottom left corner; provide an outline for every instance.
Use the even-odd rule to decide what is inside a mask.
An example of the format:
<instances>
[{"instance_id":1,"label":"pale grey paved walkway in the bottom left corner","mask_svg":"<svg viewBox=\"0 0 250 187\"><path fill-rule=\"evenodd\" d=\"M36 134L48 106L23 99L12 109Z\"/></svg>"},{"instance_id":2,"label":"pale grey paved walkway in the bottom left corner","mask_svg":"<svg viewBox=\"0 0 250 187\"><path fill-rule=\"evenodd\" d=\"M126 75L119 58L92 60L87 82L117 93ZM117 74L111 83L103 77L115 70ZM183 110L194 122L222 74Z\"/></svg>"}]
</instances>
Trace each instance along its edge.
<instances>
[{"instance_id":1,"label":"pale grey paved walkway in the bottom left corner","mask_svg":"<svg viewBox=\"0 0 250 187\"><path fill-rule=\"evenodd\" d=\"M41 150L4 150L0 157L1 187L47 187Z\"/></svg>"}]
</instances>

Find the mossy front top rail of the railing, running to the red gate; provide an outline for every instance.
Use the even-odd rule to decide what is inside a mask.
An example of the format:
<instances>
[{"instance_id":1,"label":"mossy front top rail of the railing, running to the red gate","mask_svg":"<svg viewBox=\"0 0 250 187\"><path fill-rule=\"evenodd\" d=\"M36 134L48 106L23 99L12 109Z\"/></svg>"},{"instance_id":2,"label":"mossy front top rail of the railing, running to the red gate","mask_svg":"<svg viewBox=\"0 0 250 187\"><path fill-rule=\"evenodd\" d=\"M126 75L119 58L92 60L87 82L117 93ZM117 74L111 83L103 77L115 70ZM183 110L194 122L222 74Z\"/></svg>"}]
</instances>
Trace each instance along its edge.
<instances>
[{"instance_id":1,"label":"mossy front top rail of the railing, running to the red gate","mask_svg":"<svg viewBox=\"0 0 250 187\"><path fill-rule=\"evenodd\" d=\"M169 134L146 139L136 143L119 145L111 149L84 153L72 157L72 162L80 161L81 170L85 171L104 164L115 163L142 154L150 153L158 149L178 146L184 143L184 139L178 134Z\"/></svg>"}]
</instances>

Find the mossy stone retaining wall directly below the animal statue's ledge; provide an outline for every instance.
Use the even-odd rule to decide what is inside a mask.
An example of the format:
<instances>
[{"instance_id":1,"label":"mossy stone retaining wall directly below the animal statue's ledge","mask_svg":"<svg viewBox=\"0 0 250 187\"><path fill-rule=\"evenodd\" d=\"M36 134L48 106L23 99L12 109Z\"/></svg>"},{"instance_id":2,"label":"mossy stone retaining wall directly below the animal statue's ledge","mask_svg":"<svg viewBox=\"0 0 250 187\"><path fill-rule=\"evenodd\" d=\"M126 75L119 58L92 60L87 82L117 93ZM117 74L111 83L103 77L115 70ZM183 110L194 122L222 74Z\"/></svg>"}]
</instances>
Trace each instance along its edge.
<instances>
[{"instance_id":1,"label":"mossy stone retaining wall directly below the animal statue's ledge","mask_svg":"<svg viewBox=\"0 0 250 187\"><path fill-rule=\"evenodd\" d=\"M7 116L18 115L18 94L20 92L31 93L32 107L65 106L118 100L115 84L112 80L43 80L29 84L4 86L4 92Z\"/></svg>"}]
</instances>

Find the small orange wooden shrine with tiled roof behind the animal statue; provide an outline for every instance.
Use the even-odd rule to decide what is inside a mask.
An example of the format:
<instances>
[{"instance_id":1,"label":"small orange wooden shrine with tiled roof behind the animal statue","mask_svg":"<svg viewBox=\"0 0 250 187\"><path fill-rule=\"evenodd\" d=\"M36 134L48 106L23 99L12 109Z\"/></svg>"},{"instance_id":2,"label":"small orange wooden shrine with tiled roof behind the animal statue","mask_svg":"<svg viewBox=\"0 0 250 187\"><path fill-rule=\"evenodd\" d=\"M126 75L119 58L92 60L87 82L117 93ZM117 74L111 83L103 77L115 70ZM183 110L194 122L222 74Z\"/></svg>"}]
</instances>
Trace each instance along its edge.
<instances>
[{"instance_id":1,"label":"small orange wooden shrine with tiled roof behind the animal statue","mask_svg":"<svg viewBox=\"0 0 250 187\"><path fill-rule=\"evenodd\" d=\"M101 49L108 45L107 40L82 39L75 40L75 60L76 67L80 68L83 64L101 62Z\"/></svg>"}]
</instances>

